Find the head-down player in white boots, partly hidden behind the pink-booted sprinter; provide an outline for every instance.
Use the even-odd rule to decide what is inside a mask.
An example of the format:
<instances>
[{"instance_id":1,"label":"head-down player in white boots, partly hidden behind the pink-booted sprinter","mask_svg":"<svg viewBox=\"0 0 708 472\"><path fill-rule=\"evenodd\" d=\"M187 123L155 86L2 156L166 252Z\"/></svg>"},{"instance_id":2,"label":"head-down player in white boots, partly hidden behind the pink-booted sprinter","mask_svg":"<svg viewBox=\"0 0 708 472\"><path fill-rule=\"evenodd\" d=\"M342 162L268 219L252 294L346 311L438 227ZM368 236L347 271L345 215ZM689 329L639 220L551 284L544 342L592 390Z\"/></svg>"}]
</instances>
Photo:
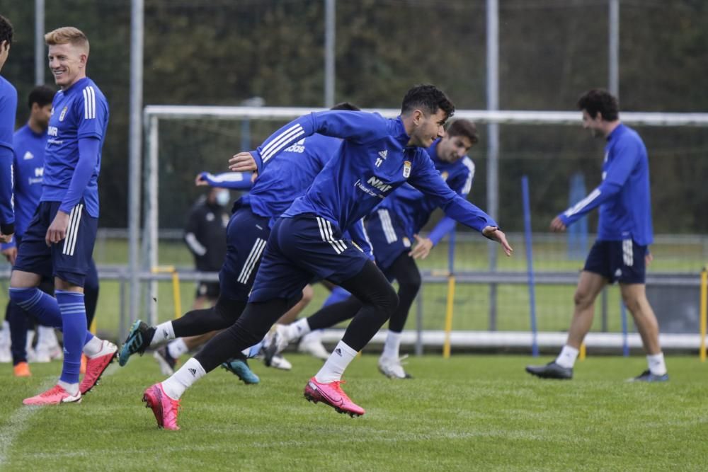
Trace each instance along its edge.
<instances>
[{"instance_id":1,"label":"head-down player in white boots, partly hidden behind the pink-booted sprinter","mask_svg":"<svg viewBox=\"0 0 708 472\"><path fill-rule=\"evenodd\" d=\"M445 137L436 140L428 148L430 159L445 183L462 198L467 198L474 179L474 163L466 154L478 140L474 123L457 120L446 130ZM384 350L378 362L379 371L391 379L410 378L401 365L399 347L406 318L421 287L421 272L415 260L426 258L433 246L455 229L455 220L443 217L428 238L418 236L434 209L434 200L426 198L411 185L404 184L367 217L367 234L374 249L376 264L389 280L399 283L399 304L389 319ZM416 241L412 250L411 241ZM333 292L333 297L340 297L339 290ZM361 306L358 299L348 297L324 306L309 318L292 325L278 325L273 341L268 343L268 349L265 350L266 357L280 352L287 343L312 330L329 328L353 317Z\"/></svg>"}]
</instances>

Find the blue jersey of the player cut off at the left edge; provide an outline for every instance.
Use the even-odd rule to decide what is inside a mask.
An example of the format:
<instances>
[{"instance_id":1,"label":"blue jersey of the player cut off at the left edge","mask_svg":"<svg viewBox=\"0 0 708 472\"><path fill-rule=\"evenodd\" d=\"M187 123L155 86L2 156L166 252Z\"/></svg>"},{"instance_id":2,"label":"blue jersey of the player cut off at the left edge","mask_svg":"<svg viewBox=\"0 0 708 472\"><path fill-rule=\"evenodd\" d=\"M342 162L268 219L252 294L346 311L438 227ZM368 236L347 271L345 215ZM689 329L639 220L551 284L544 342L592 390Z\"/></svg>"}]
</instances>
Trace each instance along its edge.
<instances>
[{"instance_id":1,"label":"blue jersey of the player cut off at the left edge","mask_svg":"<svg viewBox=\"0 0 708 472\"><path fill-rule=\"evenodd\" d=\"M17 91L12 84L0 77L0 226L14 231L15 216L12 209L12 135L15 131ZM10 231L12 230L12 231Z\"/></svg>"}]
</instances>

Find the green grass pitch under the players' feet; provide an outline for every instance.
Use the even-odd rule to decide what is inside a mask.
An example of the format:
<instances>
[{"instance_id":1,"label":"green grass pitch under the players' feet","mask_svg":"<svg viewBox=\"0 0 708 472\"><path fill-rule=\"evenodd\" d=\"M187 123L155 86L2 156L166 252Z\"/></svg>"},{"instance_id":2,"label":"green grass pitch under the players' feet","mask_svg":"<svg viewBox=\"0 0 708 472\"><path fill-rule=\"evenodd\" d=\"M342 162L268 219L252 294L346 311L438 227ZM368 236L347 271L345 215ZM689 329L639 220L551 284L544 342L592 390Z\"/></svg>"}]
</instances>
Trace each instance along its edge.
<instances>
[{"instance_id":1,"label":"green grass pitch under the players' feet","mask_svg":"<svg viewBox=\"0 0 708 472\"><path fill-rule=\"evenodd\" d=\"M0 470L704 471L707 364L669 357L670 382L627 384L644 357L588 357L573 381L523 372L531 357L409 359L410 381L385 379L375 355L356 359L352 419L302 398L319 362L291 372L255 364L261 384L219 369L183 396L182 430L157 430L140 398L161 378L154 360L110 367L80 405L28 408L60 364L16 379L0 365ZM254 361L255 362L255 361Z\"/></svg>"}]
</instances>

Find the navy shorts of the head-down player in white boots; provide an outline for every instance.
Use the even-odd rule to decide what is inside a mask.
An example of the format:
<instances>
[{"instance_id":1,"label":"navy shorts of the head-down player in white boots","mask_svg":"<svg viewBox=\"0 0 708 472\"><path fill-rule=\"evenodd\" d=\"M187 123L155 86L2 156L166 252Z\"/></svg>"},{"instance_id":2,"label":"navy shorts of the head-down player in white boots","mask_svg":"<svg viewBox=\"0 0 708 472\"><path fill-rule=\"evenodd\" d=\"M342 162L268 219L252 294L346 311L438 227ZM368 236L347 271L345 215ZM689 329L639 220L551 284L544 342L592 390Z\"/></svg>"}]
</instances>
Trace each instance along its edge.
<instances>
[{"instance_id":1,"label":"navy shorts of the head-down player in white boots","mask_svg":"<svg viewBox=\"0 0 708 472\"><path fill-rule=\"evenodd\" d=\"M396 215L388 209L379 208L367 217L366 232L374 249L376 265L384 273L399 255L411 251L411 239L406 236Z\"/></svg>"}]
</instances>

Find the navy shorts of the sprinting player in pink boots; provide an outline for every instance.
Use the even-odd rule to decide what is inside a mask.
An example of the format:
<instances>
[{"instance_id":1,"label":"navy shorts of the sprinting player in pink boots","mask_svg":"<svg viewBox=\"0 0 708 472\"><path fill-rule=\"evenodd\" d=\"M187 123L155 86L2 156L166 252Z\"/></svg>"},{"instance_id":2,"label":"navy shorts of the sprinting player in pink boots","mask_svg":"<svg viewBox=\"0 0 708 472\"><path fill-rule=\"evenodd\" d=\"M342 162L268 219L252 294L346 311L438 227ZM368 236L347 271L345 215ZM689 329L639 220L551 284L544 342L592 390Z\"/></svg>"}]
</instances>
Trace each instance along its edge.
<instances>
[{"instance_id":1,"label":"navy shorts of the sprinting player in pink boots","mask_svg":"<svg viewBox=\"0 0 708 472\"><path fill-rule=\"evenodd\" d=\"M342 237L338 226L315 214L275 221L249 301L292 299L316 280L341 284L368 258Z\"/></svg>"}]
</instances>

